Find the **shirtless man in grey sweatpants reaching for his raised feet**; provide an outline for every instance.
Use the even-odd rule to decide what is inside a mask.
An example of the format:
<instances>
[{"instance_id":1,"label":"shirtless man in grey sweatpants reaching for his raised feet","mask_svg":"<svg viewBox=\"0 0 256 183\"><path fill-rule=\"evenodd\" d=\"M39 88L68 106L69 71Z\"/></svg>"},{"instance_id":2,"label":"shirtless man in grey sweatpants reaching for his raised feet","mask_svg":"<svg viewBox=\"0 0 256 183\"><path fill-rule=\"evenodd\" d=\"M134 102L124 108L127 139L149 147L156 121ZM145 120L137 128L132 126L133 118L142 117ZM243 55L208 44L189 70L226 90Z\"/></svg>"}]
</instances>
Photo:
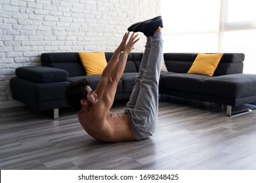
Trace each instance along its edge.
<instances>
[{"instance_id":1,"label":"shirtless man in grey sweatpants reaching for his raised feet","mask_svg":"<svg viewBox=\"0 0 256 183\"><path fill-rule=\"evenodd\" d=\"M127 57L139 41L135 33L129 41L129 33L125 33L95 91L89 87L87 79L67 86L66 101L77 111L80 124L91 137L99 141L121 142L145 139L154 133L158 121L158 82L163 56L161 27L163 23L158 16L128 28L128 31L144 33L147 42L135 88L122 114L112 113L110 108Z\"/></svg>"}]
</instances>

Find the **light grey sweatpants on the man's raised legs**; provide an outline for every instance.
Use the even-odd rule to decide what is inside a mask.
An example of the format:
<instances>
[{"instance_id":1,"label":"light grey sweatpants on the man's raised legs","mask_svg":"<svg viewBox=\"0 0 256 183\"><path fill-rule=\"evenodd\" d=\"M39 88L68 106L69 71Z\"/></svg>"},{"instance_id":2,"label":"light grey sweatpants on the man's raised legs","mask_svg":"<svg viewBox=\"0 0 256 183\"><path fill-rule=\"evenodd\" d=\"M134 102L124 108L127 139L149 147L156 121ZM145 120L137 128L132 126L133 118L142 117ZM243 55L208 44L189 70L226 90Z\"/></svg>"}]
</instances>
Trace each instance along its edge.
<instances>
[{"instance_id":1,"label":"light grey sweatpants on the man's raised legs","mask_svg":"<svg viewBox=\"0 0 256 183\"><path fill-rule=\"evenodd\" d=\"M137 140L152 136L158 123L158 84L163 60L162 33L147 37L135 87L125 108Z\"/></svg>"}]
</instances>

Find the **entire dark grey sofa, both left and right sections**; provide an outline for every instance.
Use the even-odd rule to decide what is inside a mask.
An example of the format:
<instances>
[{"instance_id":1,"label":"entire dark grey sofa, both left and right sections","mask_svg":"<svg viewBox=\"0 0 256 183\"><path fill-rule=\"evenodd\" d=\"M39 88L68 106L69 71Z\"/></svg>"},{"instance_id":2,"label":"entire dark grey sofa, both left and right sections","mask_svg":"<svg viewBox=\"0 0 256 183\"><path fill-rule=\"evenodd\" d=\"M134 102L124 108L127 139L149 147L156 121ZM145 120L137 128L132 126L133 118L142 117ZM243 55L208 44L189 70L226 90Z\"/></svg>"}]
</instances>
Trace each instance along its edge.
<instances>
[{"instance_id":1,"label":"entire dark grey sofa, both left and right sections","mask_svg":"<svg viewBox=\"0 0 256 183\"><path fill-rule=\"evenodd\" d=\"M106 52L109 61L112 52ZM142 53L131 53L125 72L117 86L115 99L128 99L135 85ZM214 76L186 74L197 54L166 53L168 72L161 72L160 93L231 107L256 102L256 75L244 75L244 54L224 54ZM12 97L38 111L53 110L58 118L58 108L68 107L64 90L80 78L88 78L94 90L100 76L87 76L77 52L41 54L41 66L20 67L11 79Z\"/></svg>"}]
</instances>

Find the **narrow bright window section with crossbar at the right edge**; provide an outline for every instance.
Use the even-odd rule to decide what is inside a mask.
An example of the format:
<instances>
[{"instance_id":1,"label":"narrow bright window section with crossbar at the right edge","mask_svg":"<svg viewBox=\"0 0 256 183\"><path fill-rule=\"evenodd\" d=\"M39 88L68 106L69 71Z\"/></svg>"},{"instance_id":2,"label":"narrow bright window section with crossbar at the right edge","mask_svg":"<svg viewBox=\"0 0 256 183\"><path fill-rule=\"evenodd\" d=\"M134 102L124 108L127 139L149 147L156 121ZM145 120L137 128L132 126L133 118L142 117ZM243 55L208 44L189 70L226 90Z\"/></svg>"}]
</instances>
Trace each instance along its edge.
<instances>
[{"instance_id":1,"label":"narrow bright window section with crossbar at the right edge","mask_svg":"<svg viewBox=\"0 0 256 183\"><path fill-rule=\"evenodd\" d=\"M245 54L244 73L255 73L256 11L253 0L225 0L222 3L223 22L220 52Z\"/></svg>"}]
</instances>

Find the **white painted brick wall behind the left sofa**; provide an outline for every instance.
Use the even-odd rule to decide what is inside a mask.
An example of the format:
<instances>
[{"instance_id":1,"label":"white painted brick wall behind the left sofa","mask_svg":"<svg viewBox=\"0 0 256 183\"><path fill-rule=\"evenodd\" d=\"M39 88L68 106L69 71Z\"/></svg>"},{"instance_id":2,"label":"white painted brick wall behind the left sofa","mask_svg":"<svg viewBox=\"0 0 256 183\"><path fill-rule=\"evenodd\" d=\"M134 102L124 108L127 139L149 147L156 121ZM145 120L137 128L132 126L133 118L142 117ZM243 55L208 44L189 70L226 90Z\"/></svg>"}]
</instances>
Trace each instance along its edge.
<instances>
[{"instance_id":1,"label":"white painted brick wall behind the left sofa","mask_svg":"<svg viewBox=\"0 0 256 183\"><path fill-rule=\"evenodd\" d=\"M43 52L112 52L129 25L159 14L160 0L1 0L0 108L20 105L9 86L17 67L40 65Z\"/></svg>"}]
</instances>

